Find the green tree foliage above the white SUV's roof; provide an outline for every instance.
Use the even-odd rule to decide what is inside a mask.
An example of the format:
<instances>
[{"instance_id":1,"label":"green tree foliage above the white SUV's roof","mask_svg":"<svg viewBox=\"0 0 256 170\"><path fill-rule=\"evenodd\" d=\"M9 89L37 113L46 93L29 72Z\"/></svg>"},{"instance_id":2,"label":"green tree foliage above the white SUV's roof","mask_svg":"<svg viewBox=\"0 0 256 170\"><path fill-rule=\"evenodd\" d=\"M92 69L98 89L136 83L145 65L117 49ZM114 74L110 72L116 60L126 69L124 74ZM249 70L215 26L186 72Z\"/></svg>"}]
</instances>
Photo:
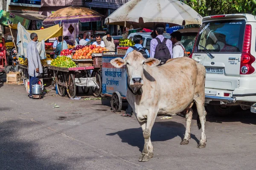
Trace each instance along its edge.
<instances>
[{"instance_id":1,"label":"green tree foliage above the white SUV's roof","mask_svg":"<svg viewBox=\"0 0 256 170\"><path fill-rule=\"evenodd\" d=\"M180 0L203 17L219 14L247 13L256 15L256 0Z\"/></svg>"}]
</instances>

